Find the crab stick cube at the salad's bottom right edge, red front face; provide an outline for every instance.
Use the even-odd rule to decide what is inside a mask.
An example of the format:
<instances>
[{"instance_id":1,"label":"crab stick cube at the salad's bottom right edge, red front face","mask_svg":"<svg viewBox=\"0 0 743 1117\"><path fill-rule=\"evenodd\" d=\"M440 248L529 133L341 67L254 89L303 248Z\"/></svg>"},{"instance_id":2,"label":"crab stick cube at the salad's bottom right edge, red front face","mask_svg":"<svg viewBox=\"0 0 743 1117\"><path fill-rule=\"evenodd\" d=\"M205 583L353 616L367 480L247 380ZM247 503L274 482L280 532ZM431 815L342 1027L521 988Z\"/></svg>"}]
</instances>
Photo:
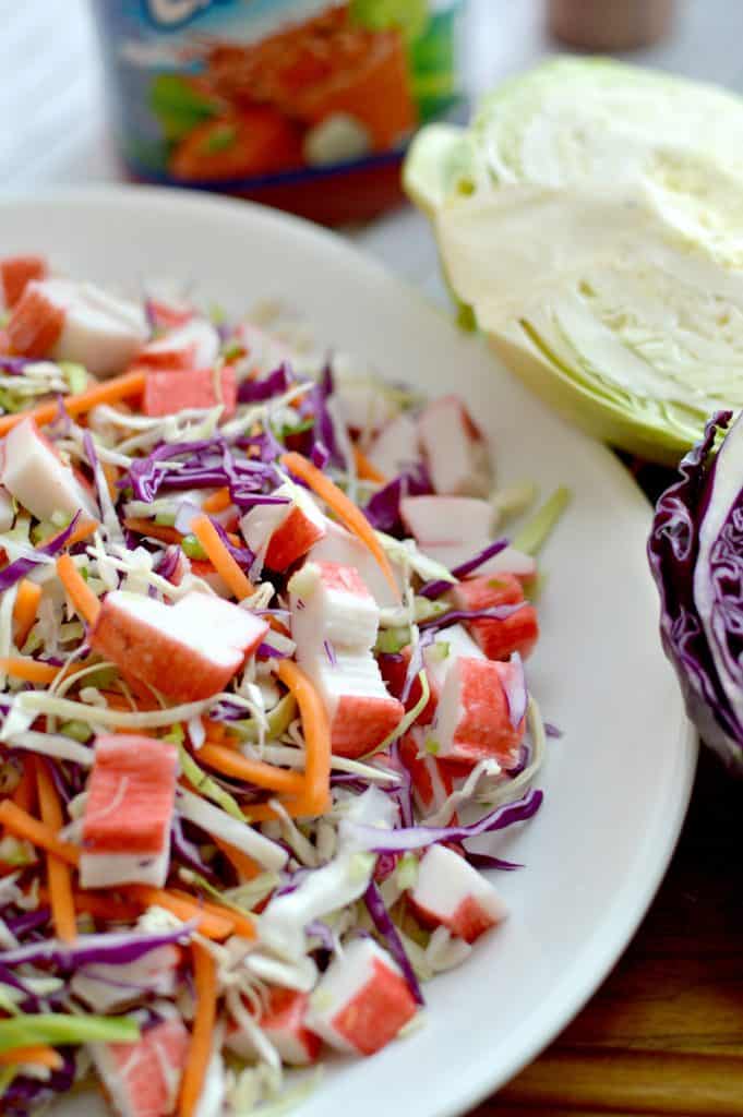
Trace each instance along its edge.
<instances>
[{"instance_id":1,"label":"crab stick cube at the salad's bottom right edge, red front face","mask_svg":"<svg viewBox=\"0 0 743 1117\"><path fill-rule=\"evenodd\" d=\"M311 997L309 1028L331 1047L373 1054L412 1020L416 1002L398 965L372 938L331 962Z\"/></svg>"}]
</instances>

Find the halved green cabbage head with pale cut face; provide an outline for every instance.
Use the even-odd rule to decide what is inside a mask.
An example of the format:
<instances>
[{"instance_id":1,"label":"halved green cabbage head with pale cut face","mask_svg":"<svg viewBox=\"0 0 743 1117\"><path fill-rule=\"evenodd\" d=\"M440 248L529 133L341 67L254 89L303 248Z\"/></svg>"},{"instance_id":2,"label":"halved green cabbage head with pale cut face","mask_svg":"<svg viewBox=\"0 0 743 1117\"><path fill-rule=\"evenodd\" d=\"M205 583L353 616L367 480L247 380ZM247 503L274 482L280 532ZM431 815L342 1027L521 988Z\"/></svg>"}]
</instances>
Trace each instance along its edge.
<instances>
[{"instance_id":1,"label":"halved green cabbage head with pale cut face","mask_svg":"<svg viewBox=\"0 0 743 1117\"><path fill-rule=\"evenodd\" d=\"M457 298L591 433L676 461L743 407L743 101L561 58L425 128L404 169Z\"/></svg>"}]
</instances>

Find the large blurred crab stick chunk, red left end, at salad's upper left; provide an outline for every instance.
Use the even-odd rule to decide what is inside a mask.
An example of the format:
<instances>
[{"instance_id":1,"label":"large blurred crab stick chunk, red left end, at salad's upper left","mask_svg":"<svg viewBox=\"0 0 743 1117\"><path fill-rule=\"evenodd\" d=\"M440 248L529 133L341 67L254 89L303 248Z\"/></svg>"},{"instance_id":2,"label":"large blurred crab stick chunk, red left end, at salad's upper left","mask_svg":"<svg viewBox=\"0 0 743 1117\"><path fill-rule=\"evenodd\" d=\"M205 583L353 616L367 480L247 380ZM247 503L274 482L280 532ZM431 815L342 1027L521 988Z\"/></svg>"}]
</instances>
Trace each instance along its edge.
<instances>
[{"instance_id":1,"label":"large blurred crab stick chunk, red left end, at salad's upper left","mask_svg":"<svg viewBox=\"0 0 743 1117\"><path fill-rule=\"evenodd\" d=\"M8 323L16 353L77 361L96 376L126 369L147 337L144 312L136 303L69 279L26 285Z\"/></svg>"}]
</instances>

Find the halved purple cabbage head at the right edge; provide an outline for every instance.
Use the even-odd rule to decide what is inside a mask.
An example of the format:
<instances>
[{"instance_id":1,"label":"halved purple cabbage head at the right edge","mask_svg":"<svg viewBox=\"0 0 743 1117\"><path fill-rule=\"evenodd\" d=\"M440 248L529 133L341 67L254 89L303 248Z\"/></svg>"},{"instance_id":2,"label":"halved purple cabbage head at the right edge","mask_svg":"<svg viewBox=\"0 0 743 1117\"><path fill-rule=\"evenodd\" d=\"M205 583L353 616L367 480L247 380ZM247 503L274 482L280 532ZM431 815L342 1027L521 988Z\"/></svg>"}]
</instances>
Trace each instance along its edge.
<instances>
[{"instance_id":1,"label":"halved purple cabbage head at the right edge","mask_svg":"<svg viewBox=\"0 0 743 1117\"><path fill-rule=\"evenodd\" d=\"M743 419L707 423L658 500L648 556L660 636L702 739L743 774Z\"/></svg>"}]
</instances>

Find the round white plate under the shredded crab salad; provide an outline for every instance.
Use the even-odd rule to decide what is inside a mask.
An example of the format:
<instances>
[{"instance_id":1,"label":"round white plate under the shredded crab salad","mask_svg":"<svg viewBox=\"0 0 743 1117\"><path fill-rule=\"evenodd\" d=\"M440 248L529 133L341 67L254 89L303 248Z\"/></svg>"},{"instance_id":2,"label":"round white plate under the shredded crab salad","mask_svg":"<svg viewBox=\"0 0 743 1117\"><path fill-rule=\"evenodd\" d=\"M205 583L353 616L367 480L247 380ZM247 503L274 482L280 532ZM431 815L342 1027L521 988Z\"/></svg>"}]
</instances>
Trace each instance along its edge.
<instances>
[{"instance_id":1,"label":"round white plate under the shredded crab salad","mask_svg":"<svg viewBox=\"0 0 743 1117\"><path fill-rule=\"evenodd\" d=\"M419 295L317 228L241 202L144 189L0 204L3 255L47 252L82 277L192 280L232 313L279 295L317 336L387 376L460 392L493 439L502 480L532 477L574 503L544 553L543 639L528 665L551 742L546 801L501 873L512 915L427 989L426 1027L334 1066L302 1117L449 1117L511 1078L568 1023L637 927L686 809L696 745L657 636L649 508L611 454L565 426ZM56 1117L102 1113L91 1097Z\"/></svg>"}]
</instances>

